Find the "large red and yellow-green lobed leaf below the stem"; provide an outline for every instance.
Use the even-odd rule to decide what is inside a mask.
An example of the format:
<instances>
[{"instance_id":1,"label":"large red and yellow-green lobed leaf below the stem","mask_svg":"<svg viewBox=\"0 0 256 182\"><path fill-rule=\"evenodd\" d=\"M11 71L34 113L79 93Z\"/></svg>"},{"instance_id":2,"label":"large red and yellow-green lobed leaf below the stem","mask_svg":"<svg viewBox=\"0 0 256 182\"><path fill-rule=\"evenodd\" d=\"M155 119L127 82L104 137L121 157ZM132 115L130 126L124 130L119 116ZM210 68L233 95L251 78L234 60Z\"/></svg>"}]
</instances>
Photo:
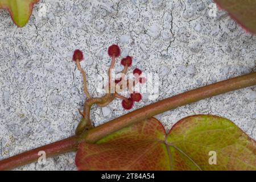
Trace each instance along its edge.
<instances>
[{"instance_id":1,"label":"large red and yellow-green lobed leaf below the stem","mask_svg":"<svg viewBox=\"0 0 256 182\"><path fill-rule=\"evenodd\" d=\"M256 170L256 143L233 122L214 115L181 119L168 134L151 118L96 143L80 143L76 166L79 170Z\"/></svg>"}]
</instances>

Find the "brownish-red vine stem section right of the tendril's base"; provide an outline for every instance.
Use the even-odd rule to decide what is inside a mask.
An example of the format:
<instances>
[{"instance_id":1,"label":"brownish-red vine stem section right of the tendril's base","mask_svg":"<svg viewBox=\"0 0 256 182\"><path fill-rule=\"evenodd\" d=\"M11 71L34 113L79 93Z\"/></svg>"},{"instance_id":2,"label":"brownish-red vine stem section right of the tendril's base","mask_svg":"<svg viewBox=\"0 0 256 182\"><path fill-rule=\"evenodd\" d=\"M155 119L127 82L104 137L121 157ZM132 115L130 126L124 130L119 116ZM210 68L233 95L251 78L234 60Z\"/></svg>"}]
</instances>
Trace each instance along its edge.
<instances>
[{"instance_id":1,"label":"brownish-red vine stem section right of the tendril's base","mask_svg":"<svg viewBox=\"0 0 256 182\"><path fill-rule=\"evenodd\" d=\"M141 109L134 110L119 118L106 122L103 125L94 127L86 132L82 138L85 139L86 142L94 143L106 135L122 129L123 127L143 121L144 119L150 118L154 115L192 102L203 100L204 98L217 96L218 94L242 89L252 85L256 85L256 72L190 90L142 107Z\"/></svg>"}]
</instances>

